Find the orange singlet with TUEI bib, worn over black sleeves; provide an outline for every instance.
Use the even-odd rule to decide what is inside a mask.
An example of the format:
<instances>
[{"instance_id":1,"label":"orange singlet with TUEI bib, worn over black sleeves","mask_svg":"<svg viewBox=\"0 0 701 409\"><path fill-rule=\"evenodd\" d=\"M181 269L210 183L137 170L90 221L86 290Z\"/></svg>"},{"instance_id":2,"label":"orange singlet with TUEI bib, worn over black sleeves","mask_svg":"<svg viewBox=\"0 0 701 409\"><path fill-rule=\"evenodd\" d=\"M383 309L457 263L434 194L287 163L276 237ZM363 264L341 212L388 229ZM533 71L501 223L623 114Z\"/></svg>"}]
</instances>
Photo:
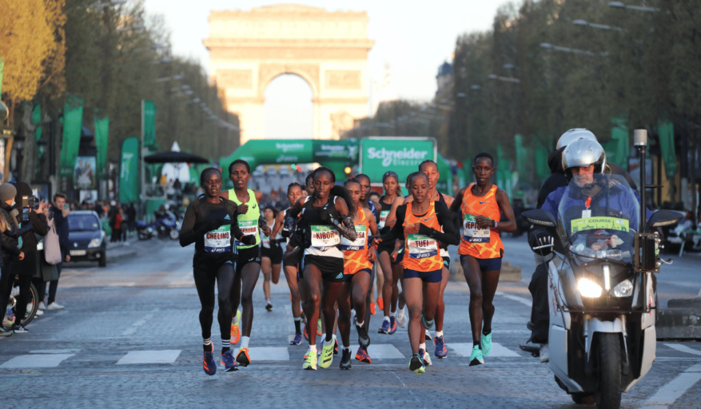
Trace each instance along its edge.
<instances>
[{"instance_id":1,"label":"orange singlet with TUEI bib, worn over black sleeves","mask_svg":"<svg viewBox=\"0 0 701 409\"><path fill-rule=\"evenodd\" d=\"M435 202L430 202L426 215L415 216L411 213L411 205L407 203L407 215L404 217L404 261L405 269L416 271L436 271L443 268L443 260L438 253L438 242L423 234L407 234L409 224L421 223L427 227L441 231L441 225L435 211Z\"/></svg>"}]
</instances>

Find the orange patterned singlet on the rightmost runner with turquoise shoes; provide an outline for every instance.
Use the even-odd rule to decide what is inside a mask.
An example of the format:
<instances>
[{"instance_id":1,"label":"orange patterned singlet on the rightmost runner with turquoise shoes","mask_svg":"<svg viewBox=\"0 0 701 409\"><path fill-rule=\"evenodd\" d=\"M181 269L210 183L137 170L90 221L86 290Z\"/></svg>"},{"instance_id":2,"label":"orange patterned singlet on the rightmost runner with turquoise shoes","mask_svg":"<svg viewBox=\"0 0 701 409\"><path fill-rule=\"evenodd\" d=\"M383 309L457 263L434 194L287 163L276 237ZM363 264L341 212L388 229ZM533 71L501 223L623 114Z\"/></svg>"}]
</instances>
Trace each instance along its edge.
<instances>
[{"instance_id":1,"label":"orange patterned singlet on the rightmost runner with turquoise shoes","mask_svg":"<svg viewBox=\"0 0 701 409\"><path fill-rule=\"evenodd\" d=\"M491 227L479 228L475 222L475 216L489 217L497 222L501 220L501 210L496 203L496 190L498 187L492 185L489 192L484 196L474 196L472 187L474 183L465 189L463 196L463 239L458 248L458 254L471 255L475 258L501 258L504 253L504 246L501 243L499 232Z\"/></svg>"}]
</instances>

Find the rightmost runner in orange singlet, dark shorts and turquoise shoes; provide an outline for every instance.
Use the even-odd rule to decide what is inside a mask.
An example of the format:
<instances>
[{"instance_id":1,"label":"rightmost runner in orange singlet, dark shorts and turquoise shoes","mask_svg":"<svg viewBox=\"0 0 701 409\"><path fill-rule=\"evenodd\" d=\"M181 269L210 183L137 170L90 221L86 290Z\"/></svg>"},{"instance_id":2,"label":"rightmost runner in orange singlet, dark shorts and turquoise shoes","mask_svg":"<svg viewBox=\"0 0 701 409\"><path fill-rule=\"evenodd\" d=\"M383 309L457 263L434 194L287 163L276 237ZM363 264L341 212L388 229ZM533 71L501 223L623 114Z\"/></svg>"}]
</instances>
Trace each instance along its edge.
<instances>
[{"instance_id":1,"label":"rightmost runner in orange singlet, dark shorts and turquoise shoes","mask_svg":"<svg viewBox=\"0 0 701 409\"><path fill-rule=\"evenodd\" d=\"M495 170L494 158L490 154L475 156L472 171L477 182L463 187L450 206L451 212L463 213L463 239L458 254L470 287L470 366L484 363L484 356L491 351L492 302L499 283L501 257L504 255L499 232L516 231L509 196L491 183Z\"/></svg>"}]
</instances>

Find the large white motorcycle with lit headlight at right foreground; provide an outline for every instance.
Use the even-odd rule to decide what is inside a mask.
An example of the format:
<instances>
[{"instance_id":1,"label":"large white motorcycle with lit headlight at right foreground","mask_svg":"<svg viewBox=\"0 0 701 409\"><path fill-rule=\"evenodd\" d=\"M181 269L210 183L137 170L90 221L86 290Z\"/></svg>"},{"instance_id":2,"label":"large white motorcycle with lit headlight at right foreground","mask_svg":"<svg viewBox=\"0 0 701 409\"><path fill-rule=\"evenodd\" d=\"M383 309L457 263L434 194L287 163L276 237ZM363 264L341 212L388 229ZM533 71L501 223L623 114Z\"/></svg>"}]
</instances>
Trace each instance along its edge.
<instances>
[{"instance_id":1,"label":"large white motorcycle with lit headlight at right foreground","mask_svg":"<svg viewBox=\"0 0 701 409\"><path fill-rule=\"evenodd\" d=\"M642 173L644 175L644 173ZM579 175L565 188L557 220L545 210L523 216L552 241L547 262L550 328L547 366L575 403L618 409L655 361L653 274L660 271L658 229L679 222L679 213L646 209L617 175ZM587 199L588 198L588 199ZM641 217L641 214L643 217ZM522 347L538 356L538 349Z\"/></svg>"}]
</instances>

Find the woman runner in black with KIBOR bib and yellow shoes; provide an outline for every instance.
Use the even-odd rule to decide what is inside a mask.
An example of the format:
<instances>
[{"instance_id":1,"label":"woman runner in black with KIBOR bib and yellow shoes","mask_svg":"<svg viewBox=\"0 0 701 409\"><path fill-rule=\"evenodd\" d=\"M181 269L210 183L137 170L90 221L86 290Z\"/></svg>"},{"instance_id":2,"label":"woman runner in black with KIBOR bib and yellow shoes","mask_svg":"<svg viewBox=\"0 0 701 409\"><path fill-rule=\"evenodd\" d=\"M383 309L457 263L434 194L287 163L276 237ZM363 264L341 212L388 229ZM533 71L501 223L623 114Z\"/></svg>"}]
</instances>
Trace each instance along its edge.
<instances>
[{"instance_id":1,"label":"woman runner in black with KIBOR bib and yellow shoes","mask_svg":"<svg viewBox=\"0 0 701 409\"><path fill-rule=\"evenodd\" d=\"M307 323L319 318L320 304L324 310L326 328L334 328L334 303L343 286L343 252L341 236L355 241L353 214L355 206L346 188L334 186L336 176L329 168L317 168L313 173L314 195L299 199L290 210L292 217L301 213L297 233L303 234L304 249L301 276L306 283L307 305L304 309ZM322 285L323 280L323 285ZM323 344L321 368L328 368L334 357L333 332L327 331ZM309 351L302 368L316 370L316 333L309 331Z\"/></svg>"}]
</instances>

